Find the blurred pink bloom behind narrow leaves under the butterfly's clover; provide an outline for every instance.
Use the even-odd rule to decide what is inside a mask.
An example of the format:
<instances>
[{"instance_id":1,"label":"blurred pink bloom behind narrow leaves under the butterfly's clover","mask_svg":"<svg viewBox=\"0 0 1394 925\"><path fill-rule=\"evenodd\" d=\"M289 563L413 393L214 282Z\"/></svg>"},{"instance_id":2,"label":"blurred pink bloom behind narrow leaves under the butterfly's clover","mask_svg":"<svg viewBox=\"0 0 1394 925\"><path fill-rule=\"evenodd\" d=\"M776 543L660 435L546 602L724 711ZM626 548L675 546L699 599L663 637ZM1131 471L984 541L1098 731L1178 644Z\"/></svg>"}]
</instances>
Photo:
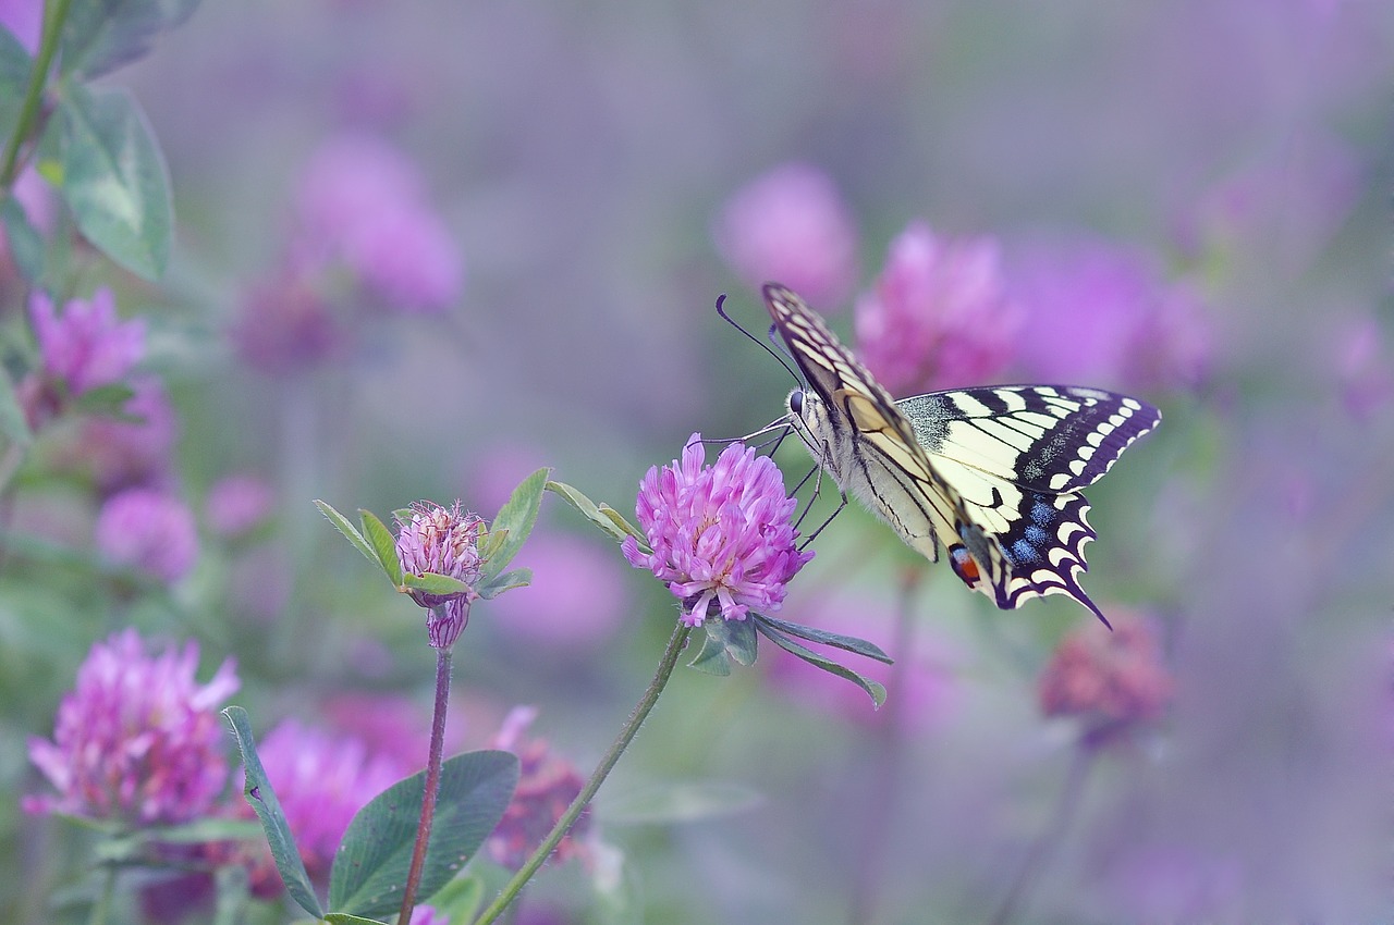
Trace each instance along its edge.
<instances>
[{"instance_id":1,"label":"blurred pink bloom behind narrow leaves under the butterfly's clover","mask_svg":"<svg viewBox=\"0 0 1394 925\"><path fill-rule=\"evenodd\" d=\"M899 710L906 727L924 731L952 712L953 656L944 642L933 638L923 623L914 627L913 648L903 652L894 645L896 614L889 602L864 595L835 593L817 602L802 600L797 610L799 623L875 642L895 659L895 666L864 662L856 669L887 685L888 702L896 701L895 710ZM800 706L834 713L849 722L882 723L895 712L875 709L864 691L803 659L771 659L767 677L781 694ZM895 680L899 685L894 685Z\"/></svg>"}]
</instances>

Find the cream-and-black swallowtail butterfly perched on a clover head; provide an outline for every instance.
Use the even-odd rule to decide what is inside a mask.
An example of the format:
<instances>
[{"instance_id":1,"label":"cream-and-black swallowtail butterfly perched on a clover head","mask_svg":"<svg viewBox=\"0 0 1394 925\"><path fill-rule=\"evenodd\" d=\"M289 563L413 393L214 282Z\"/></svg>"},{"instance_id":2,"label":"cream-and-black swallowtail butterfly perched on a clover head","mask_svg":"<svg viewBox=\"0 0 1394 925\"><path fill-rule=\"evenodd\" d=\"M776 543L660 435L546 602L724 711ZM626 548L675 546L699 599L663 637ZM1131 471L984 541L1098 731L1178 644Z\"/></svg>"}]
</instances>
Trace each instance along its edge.
<instances>
[{"instance_id":1,"label":"cream-and-black swallowtail butterfly perched on a clover head","mask_svg":"<svg viewBox=\"0 0 1394 925\"><path fill-rule=\"evenodd\" d=\"M1079 386L981 386L899 401L790 290L765 304L803 372L788 423L842 490L963 582L1012 610L1069 595L1096 534L1082 489L1161 421L1146 401ZM841 508L839 508L841 510Z\"/></svg>"}]
</instances>

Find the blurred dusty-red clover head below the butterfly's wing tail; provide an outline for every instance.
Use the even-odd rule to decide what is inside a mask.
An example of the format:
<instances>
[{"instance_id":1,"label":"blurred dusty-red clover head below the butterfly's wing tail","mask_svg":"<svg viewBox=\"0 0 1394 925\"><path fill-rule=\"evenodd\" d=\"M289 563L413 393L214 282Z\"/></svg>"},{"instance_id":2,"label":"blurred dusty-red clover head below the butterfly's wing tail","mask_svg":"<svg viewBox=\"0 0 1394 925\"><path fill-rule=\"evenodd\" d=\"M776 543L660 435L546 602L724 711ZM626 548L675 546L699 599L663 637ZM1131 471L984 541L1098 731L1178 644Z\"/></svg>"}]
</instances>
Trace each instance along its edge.
<instances>
[{"instance_id":1,"label":"blurred dusty-red clover head below the butterfly's wing tail","mask_svg":"<svg viewBox=\"0 0 1394 925\"><path fill-rule=\"evenodd\" d=\"M1089 624L1066 635L1040 678L1047 716L1078 716L1090 733L1154 720L1174 681L1147 620L1115 617L1112 632Z\"/></svg>"}]
</instances>

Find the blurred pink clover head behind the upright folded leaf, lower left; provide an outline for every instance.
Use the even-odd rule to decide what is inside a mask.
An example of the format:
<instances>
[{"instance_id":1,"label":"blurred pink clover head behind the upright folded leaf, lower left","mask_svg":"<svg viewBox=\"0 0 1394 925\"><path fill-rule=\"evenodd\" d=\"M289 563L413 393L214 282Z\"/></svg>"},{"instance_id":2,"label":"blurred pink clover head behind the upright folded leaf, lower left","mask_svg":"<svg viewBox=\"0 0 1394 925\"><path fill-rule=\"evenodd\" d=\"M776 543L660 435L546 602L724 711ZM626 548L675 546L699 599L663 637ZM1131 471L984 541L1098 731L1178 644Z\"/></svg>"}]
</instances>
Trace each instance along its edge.
<instances>
[{"instance_id":1,"label":"blurred pink clover head behind the upright folded leaf, lower left","mask_svg":"<svg viewBox=\"0 0 1394 925\"><path fill-rule=\"evenodd\" d=\"M410 773L393 755L369 754L357 738L294 719L268 733L256 744L256 754L286 812L305 872L316 883L328 882L335 851L354 814ZM237 814L251 816L252 809L238 801ZM258 853L252 864L258 894L279 893L279 879L269 851Z\"/></svg>"}]
</instances>

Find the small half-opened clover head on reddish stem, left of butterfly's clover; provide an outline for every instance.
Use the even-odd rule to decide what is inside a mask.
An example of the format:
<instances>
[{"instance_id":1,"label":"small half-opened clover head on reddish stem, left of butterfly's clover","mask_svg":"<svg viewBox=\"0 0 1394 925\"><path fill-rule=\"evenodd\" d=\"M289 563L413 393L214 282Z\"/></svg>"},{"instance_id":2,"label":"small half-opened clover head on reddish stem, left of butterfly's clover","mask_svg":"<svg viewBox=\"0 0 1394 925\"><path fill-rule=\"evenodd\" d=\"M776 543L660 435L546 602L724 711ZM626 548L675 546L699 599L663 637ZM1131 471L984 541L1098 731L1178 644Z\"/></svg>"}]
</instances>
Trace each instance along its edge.
<instances>
[{"instance_id":1,"label":"small half-opened clover head on reddish stem, left of butterfly's clover","mask_svg":"<svg viewBox=\"0 0 1394 925\"><path fill-rule=\"evenodd\" d=\"M410 520L397 520L397 560L403 573L449 575L470 585L470 591L450 595L410 592L413 600L427 607L427 631L435 649L450 648L470 621L470 605L478 596L474 585L484 567L478 545L482 534L484 521L477 514L460 513L460 502L449 508L417 502Z\"/></svg>"}]
</instances>

